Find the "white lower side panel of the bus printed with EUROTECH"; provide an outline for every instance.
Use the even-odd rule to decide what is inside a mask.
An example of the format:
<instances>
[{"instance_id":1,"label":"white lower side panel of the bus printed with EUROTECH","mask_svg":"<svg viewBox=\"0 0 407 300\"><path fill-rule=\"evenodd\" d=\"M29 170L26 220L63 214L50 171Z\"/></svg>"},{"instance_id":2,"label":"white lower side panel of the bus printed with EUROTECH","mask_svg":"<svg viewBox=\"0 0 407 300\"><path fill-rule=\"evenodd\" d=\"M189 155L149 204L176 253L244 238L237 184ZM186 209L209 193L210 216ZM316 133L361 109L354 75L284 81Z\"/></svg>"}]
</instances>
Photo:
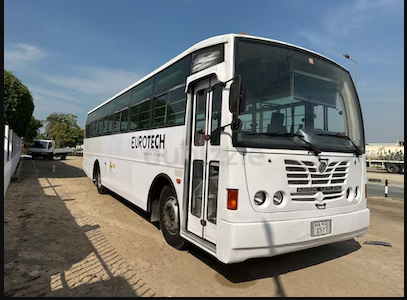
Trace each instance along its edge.
<instances>
[{"instance_id":1,"label":"white lower side panel of the bus printed with EUROTECH","mask_svg":"<svg viewBox=\"0 0 407 300\"><path fill-rule=\"evenodd\" d=\"M83 168L92 178L98 161L102 184L143 210L147 210L149 191L159 174L171 179L182 198L184 129L177 126L85 139Z\"/></svg>"}]
</instances>

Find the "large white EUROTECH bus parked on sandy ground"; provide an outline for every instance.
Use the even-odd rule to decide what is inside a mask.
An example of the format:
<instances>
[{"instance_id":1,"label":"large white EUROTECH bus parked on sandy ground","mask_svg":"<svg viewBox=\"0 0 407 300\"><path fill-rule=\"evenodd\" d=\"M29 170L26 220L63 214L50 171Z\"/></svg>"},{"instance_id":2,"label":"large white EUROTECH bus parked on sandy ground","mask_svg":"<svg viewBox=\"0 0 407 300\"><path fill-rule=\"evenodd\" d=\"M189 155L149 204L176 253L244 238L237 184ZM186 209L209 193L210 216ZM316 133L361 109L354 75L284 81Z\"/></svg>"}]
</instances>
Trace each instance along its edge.
<instances>
[{"instance_id":1,"label":"large white EUROTECH bus parked on sandy ground","mask_svg":"<svg viewBox=\"0 0 407 300\"><path fill-rule=\"evenodd\" d=\"M366 156L345 68L245 34L201 41L87 115L83 169L223 263L361 237Z\"/></svg>"}]
</instances>

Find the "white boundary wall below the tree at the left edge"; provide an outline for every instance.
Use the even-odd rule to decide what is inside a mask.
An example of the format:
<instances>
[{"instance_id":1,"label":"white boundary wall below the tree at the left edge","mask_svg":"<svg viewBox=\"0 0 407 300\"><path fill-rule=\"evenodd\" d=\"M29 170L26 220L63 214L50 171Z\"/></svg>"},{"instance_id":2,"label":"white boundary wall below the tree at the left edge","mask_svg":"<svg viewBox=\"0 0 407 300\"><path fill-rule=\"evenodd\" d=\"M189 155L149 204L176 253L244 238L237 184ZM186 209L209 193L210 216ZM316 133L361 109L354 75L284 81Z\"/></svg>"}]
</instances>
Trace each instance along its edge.
<instances>
[{"instance_id":1,"label":"white boundary wall below the tree at the left edge","mask_svg":"<svg viewBox=\"0 0 407 300\"><path fill-rule=\"evenodd\" d=\"M4 196L21 158L22 140L4 125Z\"/></svg>"}]
</instances>

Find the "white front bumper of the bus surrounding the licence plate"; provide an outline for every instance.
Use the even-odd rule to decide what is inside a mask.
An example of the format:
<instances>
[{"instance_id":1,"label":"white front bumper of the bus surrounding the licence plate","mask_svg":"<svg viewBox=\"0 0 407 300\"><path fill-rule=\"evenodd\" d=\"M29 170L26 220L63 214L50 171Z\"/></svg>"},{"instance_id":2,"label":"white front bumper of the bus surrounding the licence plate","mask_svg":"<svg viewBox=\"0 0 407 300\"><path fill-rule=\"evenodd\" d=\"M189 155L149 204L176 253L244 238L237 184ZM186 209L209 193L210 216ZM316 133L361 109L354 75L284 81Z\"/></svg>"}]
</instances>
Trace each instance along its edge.
<instances>
[{"instance_id":1,"label":"white front bumper of the bus surrounding the licence plate","mask_svg":"<svg viewBox=\"0 0 407 300\"><path fill-rule=\"evenodd\" d=\"M331 233L311 236L311 222L332 220ZM363 236L370 211L363 210L319 218L290 221L230 223L221 220L217 258L236 263L249 258L270 257Z\"/></svg>"}]
</instances>

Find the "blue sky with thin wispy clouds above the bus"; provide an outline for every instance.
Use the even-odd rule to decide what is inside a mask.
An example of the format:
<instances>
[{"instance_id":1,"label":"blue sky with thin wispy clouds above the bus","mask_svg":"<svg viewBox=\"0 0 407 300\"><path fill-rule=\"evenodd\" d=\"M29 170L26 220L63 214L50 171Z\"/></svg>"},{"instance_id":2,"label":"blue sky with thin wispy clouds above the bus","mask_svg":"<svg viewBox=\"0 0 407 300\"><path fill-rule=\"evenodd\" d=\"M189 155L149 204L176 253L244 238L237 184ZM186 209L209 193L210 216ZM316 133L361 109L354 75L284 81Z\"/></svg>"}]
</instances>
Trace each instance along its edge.
<instances>
[{"instance_id":1,"label":"blue sky with thin wispy clouds above the bus","mask_svg":"<svg viewBox=\"0 0 407 300\"><path fill-rule=\"evenodd\" d=\"M367 142L404 140L403 0L5 0L4 68L34 116L86 113L208 37L246 32L326 55L355 78Z\"/></svg>"}]
</instances>

